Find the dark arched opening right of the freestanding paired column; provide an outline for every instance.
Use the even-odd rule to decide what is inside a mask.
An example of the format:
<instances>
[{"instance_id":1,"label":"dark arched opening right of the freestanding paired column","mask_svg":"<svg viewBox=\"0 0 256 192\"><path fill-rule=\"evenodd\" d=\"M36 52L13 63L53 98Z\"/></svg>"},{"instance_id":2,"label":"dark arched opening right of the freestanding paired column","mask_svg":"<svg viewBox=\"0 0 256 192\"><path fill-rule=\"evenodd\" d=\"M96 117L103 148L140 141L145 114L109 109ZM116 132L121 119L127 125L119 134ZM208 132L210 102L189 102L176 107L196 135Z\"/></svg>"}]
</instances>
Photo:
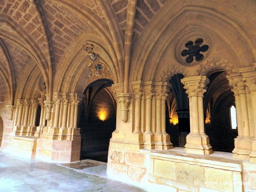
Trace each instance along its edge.
<instances>
[{"instance_id":1,"label":"dark arched opening right of the freestanding paired column","mask_svg":"<svg viewBox=\"0 0 256 192\"><path fill-rule=\"evenodd\" d=\"M207 75L210 84L204 95L205 133L214 151L232 152L238 131L232 128L230 108L236 105L226 75L224 71Z\"/></svg>"}]
</instances>

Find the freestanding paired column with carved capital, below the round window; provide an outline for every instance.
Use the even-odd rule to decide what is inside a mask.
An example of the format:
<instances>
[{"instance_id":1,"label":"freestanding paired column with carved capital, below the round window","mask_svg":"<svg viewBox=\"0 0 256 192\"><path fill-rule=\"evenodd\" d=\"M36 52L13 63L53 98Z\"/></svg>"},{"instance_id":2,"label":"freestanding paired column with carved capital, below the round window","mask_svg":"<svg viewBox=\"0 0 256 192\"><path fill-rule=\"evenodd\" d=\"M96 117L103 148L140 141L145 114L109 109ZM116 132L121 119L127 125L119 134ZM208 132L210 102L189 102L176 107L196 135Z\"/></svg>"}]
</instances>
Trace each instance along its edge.
<instances>
[{"instance_id":1,"label":"freestanding paired column with carved capital, below the round window","mask_svg":"<svg viewBox=\"0 0 256 192\"><path fill-rule=\"evenodd\" d=\"M189 98L190 133L186 137L185 152L211 154L209 138L204 133L203 94L210 82L206 76L186 77L181 80Z\"/></svg>"}]
</instances>

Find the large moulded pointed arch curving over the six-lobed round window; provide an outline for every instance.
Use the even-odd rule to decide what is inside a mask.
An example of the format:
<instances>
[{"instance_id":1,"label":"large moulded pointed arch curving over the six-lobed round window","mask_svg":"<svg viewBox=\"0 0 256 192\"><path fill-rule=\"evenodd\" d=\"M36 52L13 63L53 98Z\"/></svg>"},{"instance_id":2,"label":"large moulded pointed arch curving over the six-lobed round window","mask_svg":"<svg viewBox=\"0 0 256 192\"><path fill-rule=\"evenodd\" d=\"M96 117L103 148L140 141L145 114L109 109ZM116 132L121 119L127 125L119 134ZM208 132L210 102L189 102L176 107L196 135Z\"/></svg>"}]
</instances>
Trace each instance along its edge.
<instances>
[{"instance_id":1,"label":"large moulded pointed arch curving over the six-lobed round window","mask_svg":"<svg viewBox=\"0 0 256 192\"><path fill-rule=\"evenodd\" d=\"M167 64L168 59L165 60L165 52L170 45L175 44L176 38L178 38L179 34L182 34L182 31L190 28L191 30L199 30L201 27L206 28L210 33L215 34L219 39L223 42L226 42L226 45L229 45L237 62L237 67L248 66L255 60L255 46L250 42L250 33L252 30L248 31L248 34L245 33L247 27L243 26L241 18L244 19L244 16L240 16L236 21L231 20L230 16L223 16L215 10L215 6L213 4L203 5L194 7L187 3L186 6L181 2L173 5L172 2L171 10L166 10L166 12L161 12L154 19L159 21L166 20L169 21L164 27L162 26L162 22L151 22L148 27L144 30L144 35L139 37L138 42L140 44L134 45L134 55L132 69L131 71L137 71L134 75L130 74L133 78L132 80L154 80L156 77L160 76L157 72L159 68L163 68L160 63ZM181 5L182 4L182 5ZM211 7L212 6L212 7ZM166 5L166 7L168 7ZM228 9L228 7L223 7L224 9ZM174 12L174 15L171 15L170 12ZM234 10L229 10L232 14ZM230 14L230 15L232 15ZM200 18L200 22L197 20L188 18L194 18L193 16L198 15ZM216 20L216 23L219 23L216 27L214 25L210 26L209 20ZM241 24L241 25L240 25ZM151 28L155 28L156 30L150 31ZM237 40L238 39L238 40ZM240 47L241 49L238 49ZM243 50L244 52L240 52ZM245 52L248 50L248 52ZM172 54L168 52L168 54ZM160 53L159 53L160 52ZM142 54L143 53L143 54ZM159 54L158 54L159 53ZM150 55L150 56L149 56ZM244 61L245 60L245 61ZM170 62L168 62L169 64ZM177 63L175 59L171 62L172 64ZM177 64L179 65L179 64ZM176 65L176 66L177 66ZM158 69L156 68L158 66ZM146 76L145 72L150 73L150 75ZM194 75L194 74L193 74ZM190 75L188 75L190 76Z\"/></svg>"}]
</instances>

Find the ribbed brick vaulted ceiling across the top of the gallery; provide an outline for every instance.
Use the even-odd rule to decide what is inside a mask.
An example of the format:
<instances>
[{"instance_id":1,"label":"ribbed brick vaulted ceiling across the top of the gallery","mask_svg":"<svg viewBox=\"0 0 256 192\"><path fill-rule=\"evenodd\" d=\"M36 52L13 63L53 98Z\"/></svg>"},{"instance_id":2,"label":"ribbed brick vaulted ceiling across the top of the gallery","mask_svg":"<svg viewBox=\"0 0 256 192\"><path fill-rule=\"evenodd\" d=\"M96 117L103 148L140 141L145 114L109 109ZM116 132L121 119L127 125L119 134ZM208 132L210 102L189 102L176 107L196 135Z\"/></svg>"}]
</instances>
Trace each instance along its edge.
<instances>
[{"instance_id":1,"label":"ribbed brick vaulted ceiling across the top of the gallery","mask_svg":"<svg viewBox=\"0 0 256 192\"><path fill-rule=\"evenodd\" d=\"M221 0L221 6L216 5L216 2L209 1L205 7L216 8L218 12L231 19L230 23L238 24L237 26L240 27L236 29L238 34L243 34L244 39L248 38L256 42L256 30L254 30L256 2L254 0ZM154 60L150 61L154 58L151 55L141 58L141 52L138 50L144 51L145 55L147 52L154 54L155 50L158 50L158 44L164 45L165 40L168 39L166 34L172 25L176 25L174 22L182 15L190 14L186 10L200 8L204 3L204 0L0 0L0 94L8 95L7 104L13 104L18 98L16 90L26 89L29 83L33 84L33 80L28 76L34 74L31 79L38 76L43 78L46 97L51 100L52 92L58 91L57 88L54 89L55 84L59 84L56 79L66 74L62 73L62 70L64 68L74 70L76 74L80 66L77 65L73 69L68 68L67 65L71 62L84 62L82 59L75 61L75 56L69 58L73 54L72 48L82 50L82 46L78 46L81 40L83 41L81 44L86 40L99 44L101 48L98 52L106 58L109 57L106 62L113 63L113 67L110 65L110 68L113 68L112 71L116 74L116 82L123 84L122 91L127 92L128 79L133 73L131 71L138 69L138 74L141 73L138 76L143 76L146 64L144 66L141 63L155 63ZM226 10L230 10L231 13ZM207 12L210 11L207 10ZM200 18L202 13L203 11L199 12L194 19L188 17L186 26L189 28L197 25L194 22L190 25L189 22L192 20L197 20L198 26L202 24L204 22L203 17ZM236 14L234 18L232 14ZM177 20L169 22L172 16ZM224 16L220 18L224 20ZM179 25L182 26L183 23L180 22ZM236 25L233 24L233 26ZM161 39L162 34L166 37ZM156 41L154 44L153 37L150 35L154 36ZM172 34L169 32L169 35ZM173 39L175 35L173 33ZM144 39L147 37L148 41ZM151 44L147 45L149 42ZM242 47L240 41L234 44L229 43L230 46ZM254 43L248 45L248 49L253 54L256 53L254 46ZM166 49L160 48L158 51L168 54ZM245 51L240 51L239 48L238 51L237 55L246 57ZM79 51L74 52L78 56ZM254 57L251 56L248 60L252 61ZM131 66L132 58L135 58L133 66ZM31 66L26 68L29 63ZM138 65L144 67L139 69ZM150 64L148 68L151 68ZM24 70L31 70L31 72ZM156 75L158 74L151 76ZM147 79L147 77L144 78ZM30 82L24 83L28 80ZM19 96L22 97L22 94Z\"/></svg>"}]
</instances>

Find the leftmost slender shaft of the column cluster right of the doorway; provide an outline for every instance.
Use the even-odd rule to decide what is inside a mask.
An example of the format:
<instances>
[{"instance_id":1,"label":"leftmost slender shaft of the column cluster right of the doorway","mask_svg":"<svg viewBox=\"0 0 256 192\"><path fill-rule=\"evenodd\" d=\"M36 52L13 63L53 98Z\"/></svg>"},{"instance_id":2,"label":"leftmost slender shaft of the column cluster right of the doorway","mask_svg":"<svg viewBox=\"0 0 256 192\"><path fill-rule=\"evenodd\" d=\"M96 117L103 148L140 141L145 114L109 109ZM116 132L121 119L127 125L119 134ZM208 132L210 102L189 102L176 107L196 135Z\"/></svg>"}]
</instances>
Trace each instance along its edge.
<instances>
[{"instance_id":1,"label":"leftmost slender shaft of the column cluster right of the doorway","mask_svg":"<svg viewBox=\"0 0 256 192\"><path fill-rule=\"evenodd\" d=\"M140 110L141 110L141 96L142 96L142 88L134 88L134 133L141 134L140 131Z\"/></svg>"}]
</instances>

